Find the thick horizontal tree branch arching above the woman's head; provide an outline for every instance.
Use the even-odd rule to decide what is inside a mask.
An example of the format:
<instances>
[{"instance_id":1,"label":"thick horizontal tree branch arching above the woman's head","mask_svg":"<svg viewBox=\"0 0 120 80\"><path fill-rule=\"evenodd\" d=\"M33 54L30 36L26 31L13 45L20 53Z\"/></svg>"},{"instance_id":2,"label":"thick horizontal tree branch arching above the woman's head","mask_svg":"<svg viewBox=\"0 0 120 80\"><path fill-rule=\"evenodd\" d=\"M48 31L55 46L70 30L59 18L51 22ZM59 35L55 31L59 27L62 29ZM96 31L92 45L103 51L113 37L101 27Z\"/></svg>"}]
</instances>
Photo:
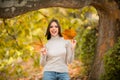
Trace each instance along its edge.
<instances>
[{"instance_id":1,"label":"thick horizontal tree branch arching above the woman's head","mask_svg":"<svg viewBox=\"0 0 120 80\"><path fill-rule=\"evenodd\" d=\"M48 7L81 8L92 0L1 0L0 18L11 18Z\"/></svg>"}]
</instances>

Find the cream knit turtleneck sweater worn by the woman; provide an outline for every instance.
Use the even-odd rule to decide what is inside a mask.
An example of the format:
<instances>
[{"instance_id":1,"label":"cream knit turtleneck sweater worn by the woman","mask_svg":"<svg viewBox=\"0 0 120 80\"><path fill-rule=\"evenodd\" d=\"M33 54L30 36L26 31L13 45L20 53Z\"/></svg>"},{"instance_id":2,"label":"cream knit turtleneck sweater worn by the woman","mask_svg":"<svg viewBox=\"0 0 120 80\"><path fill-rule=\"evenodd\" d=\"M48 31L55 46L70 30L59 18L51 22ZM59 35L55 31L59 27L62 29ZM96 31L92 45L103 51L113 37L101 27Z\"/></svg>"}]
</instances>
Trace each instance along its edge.
<instances>
[{"instance_id":1,"label":"cream knit turtleneck sweater worn by the woman","mask_svg":"<svg viewBox=\"0 0 120 80\"><path fill-rule=\"evenodd\" d=\"M68 72L67 64L74 59L74 50L70 41L62 37L51 37L46 44L47 54L41 55L40 64L43 71Z\"/></svg>"}]
</instances>

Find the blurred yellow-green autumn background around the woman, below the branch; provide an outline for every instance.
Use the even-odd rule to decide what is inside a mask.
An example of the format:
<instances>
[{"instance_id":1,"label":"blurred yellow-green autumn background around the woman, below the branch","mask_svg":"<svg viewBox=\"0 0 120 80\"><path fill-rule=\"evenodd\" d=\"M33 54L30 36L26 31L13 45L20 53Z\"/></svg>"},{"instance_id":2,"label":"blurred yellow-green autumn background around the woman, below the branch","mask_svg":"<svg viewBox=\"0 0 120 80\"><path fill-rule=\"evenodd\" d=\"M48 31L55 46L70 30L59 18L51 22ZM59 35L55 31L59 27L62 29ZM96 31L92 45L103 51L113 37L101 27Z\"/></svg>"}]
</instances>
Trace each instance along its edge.
<instances>
[{"instance_id":1,"label":"blurred yellow-green autumn background around the woman, below the branch","mask_svg":"<svg viewBox=\"0 0 120 80\"><path fill-rule=\"evenodd\" d=\"M99 16L92 6L82 9L44 8L0 19L0 80L41 80L40 48L47 42L47 25L58 19L65 39L76 39L71 80L89 75L98 36Z\"/></svg>"}]
</instances>

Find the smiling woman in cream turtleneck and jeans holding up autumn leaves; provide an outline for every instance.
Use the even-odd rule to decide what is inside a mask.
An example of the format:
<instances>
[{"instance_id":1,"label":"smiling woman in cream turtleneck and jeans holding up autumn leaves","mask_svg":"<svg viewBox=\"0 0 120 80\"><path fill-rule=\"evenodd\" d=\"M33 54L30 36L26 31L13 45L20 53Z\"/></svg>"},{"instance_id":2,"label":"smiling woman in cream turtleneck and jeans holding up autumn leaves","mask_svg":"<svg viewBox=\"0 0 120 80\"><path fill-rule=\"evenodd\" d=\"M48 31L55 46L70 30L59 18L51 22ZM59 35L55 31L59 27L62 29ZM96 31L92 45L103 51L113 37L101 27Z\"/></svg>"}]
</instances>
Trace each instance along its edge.
<instances>
[{"instance_id":1,"label":"smiling woman in cream turtleneck and jeans holding up autumn leaves","mask_svg":"<svg viewBox=\"0 0 120 80\"><path fill-rule=\"evenodd\" d=\"M56 19L48 24L47 44L41 49L40 63L44 67L43 80L70 80L67 65L74 59L76 41L64 40Z\"/></svg>"}]
</instances>

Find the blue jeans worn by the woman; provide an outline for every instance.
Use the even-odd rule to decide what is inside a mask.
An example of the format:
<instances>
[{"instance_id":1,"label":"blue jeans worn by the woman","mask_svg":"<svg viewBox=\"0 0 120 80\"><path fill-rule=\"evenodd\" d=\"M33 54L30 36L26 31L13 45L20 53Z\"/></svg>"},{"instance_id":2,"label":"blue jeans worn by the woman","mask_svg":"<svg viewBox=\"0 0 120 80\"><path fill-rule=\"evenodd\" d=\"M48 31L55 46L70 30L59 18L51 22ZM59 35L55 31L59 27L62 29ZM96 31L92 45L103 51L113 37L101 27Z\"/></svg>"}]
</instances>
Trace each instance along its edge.
<instances>
[{"instance_id":1,"label":"blue jeans worn by the woman","mask_svg":"<svg viewBox=\"0 0 120 80\"><path fill-rule=\"evenodd\" d=\"M67 72L54 72L45 71L43 74L43 80L70 80L69 74Z\"/></svg>"}]
</instances>

